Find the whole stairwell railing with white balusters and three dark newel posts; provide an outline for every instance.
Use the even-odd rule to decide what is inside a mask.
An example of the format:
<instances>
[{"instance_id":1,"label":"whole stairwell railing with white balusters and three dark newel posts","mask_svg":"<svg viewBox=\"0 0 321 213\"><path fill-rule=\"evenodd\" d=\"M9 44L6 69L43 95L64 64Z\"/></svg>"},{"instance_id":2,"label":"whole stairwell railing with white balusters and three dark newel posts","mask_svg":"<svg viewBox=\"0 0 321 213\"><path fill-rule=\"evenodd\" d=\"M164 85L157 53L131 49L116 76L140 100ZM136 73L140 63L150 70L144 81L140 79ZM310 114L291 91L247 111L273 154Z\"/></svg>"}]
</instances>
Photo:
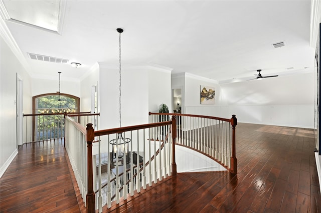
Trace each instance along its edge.
<instances>
[{"instance_id":1,"label":"whole stairwell railing with white balusters and three dark newel posts","mask_svg":"<svg viewBox=\"0 0 321 213\"><path fill-rule=\"evenodd\" d=\"M66 149L88 212L102 212L103 206L110 208L147 185L176 175L175 144L202 152L237 173L235 115L230 119L149 115L148 124L104 130L95 130L92 123L85 129L71 118L75 116L66 116ZM122 137L128 148L118 146ZM114 154L117 150L124 153L123 158Z\"/></svg>"}]
</instances>

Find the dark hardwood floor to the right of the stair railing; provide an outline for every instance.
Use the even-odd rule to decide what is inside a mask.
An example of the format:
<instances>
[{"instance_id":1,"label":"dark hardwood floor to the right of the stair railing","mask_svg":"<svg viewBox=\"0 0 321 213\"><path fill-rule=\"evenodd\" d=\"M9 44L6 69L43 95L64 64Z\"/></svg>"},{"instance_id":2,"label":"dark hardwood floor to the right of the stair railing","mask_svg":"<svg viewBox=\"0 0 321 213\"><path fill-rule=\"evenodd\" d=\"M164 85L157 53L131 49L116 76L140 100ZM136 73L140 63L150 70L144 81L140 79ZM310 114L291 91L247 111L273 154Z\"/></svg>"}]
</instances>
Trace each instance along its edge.
<instances>
[{"instance_id":1,"label":"dark hardwood floor to the right of the stair railing","mask_svg":"<svg viewBox=\"0 0 321 213\"><path fill-rule=\"evenodd\" d=\"M321 212L312 129L239 123L238 173L179 173L111 212Z\"/></svg>"}]
</instances>

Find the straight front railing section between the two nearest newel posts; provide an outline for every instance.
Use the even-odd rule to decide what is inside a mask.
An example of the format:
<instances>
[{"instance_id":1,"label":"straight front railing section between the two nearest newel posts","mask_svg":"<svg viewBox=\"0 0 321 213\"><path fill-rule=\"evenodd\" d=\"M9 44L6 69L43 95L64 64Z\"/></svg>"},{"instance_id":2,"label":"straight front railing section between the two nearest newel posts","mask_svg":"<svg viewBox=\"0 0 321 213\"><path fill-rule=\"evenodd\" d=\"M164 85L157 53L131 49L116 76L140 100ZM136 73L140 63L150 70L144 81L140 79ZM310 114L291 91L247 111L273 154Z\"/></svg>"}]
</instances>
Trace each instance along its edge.
<instances>
[{"instance_id":1,"label":"straight front railing section between the two nearest newel posts","mask_svg":"<svg viewBox=\"0 0 321 213\"><path fill-rule=\"evenodd\" d=\"M153 182L176 175L175 139L176 118L171 121L148 123L113 129L95 131L87 124L87 211L95 212L102 206L119 203L140 192ZM124 157L113 155L111 141L117 146L121 137L128 141L128 149L121 147ZM163 139L156 139L163 138ZM130 140L130 141L129 141ZM98 165L92 155L93 144L98 144ZM101 156L107 155L107 163L101 163ZM121 161L122 160L122 161ZM96 172L96 169L98 170ZM105 182L102 181L102 169L105 169ZM97 187L95 187L97 186ZM96 190L94 189L96 188Z\"/></svg>"}]
</instances>

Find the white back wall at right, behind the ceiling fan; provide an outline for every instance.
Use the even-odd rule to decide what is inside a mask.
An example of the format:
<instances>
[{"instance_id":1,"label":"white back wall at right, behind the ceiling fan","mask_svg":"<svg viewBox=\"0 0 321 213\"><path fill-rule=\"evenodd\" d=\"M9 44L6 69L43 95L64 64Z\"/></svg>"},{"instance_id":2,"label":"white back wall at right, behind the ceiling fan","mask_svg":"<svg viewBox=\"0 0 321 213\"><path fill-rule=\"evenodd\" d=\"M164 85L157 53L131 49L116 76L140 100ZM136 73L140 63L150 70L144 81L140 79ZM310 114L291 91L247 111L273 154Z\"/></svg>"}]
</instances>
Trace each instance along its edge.
<instances>
[{"instance_id":1,"label":"white back wall at right, behind the ceiling fan","mask_svg":"<svg viewBox=\"0 0 321 213\"><path fill-rule=\"evenodd\" d=\"M222 84L239 122L314 127L314 73Z\"/></svg>"}]
</instances>

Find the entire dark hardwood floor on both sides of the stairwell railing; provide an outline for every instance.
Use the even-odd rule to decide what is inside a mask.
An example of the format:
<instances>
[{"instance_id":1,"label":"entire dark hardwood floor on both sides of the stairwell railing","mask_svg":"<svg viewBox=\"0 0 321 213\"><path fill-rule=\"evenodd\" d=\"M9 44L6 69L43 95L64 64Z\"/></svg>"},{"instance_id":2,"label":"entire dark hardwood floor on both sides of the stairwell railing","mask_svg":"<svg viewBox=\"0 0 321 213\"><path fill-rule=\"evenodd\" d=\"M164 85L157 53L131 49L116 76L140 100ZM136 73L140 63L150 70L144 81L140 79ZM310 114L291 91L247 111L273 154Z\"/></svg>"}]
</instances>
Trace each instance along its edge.
<instances>
[{"instance_id":1,"label":"entire dark hardwood floor on both sides of the stairwell railing","mask_svg":"<svg viewBox=\"0 0 321 213\"><path fill-rule=\"evenodd\" d=\"M239 123L236 135L237 174L179 173L104 212L321 212L313 129ZM80 212L65 157L57 141L24 144L0 178L1 212Z\"/></svg>"}]
</instances>

